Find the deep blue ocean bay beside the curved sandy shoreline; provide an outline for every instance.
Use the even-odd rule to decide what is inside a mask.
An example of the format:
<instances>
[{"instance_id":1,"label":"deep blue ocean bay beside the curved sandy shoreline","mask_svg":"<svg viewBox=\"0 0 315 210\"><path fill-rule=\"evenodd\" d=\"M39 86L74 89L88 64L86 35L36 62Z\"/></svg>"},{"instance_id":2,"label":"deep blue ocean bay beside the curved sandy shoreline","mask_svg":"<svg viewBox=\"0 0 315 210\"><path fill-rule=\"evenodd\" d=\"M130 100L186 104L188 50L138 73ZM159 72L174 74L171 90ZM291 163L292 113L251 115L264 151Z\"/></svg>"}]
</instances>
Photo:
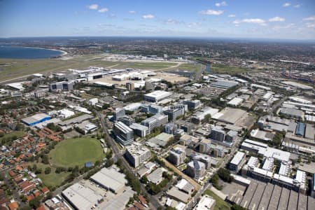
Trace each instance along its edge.
<instances>
[{"instance_id":1,"label":"deep blue ocean bay beside the curved sandy shoreline","mask_svg":"<svg viewBox=\"0 0 315 210\"><path fill-rule=\"evenodd\" d=\"M62 52L43 48L0 46L0 58L43 59L58 55L62 55Z\"/></svg>"}]
</instances>

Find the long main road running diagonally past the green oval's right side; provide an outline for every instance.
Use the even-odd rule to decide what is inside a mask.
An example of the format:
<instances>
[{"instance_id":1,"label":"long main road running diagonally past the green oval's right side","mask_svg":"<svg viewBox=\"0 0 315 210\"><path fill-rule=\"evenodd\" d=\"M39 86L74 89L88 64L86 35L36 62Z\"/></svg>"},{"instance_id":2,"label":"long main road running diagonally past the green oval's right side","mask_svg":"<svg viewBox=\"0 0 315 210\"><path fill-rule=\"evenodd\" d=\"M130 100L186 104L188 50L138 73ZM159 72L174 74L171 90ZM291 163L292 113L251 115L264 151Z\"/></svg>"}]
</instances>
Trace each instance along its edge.
<instances>
[{"instance_id":1,"label":"long main road running diagonally past the green oval's right side","mask_svg":"<svg viewBox=\"0 0 315 210\"><path fill-rule=\"evenodd\" d=\"M130 172L131 174L133 174L135 179L138 179L137 176L134 175L134 170L132 169L132 167L130 167L129 163L127 162L127 160L125 160L125 158L123 158L123 153L120 152L115 140L113 138L111 138L111 136L109 135L109 130L106 127L106 123L104 120L104 117L102 116L101 113L97 112L97 117L99 118L100 122L101 122L101 126L102 126L102 130L104 132L105 138L108 140L107 142L109 143L109 146L111 147L111 149L113 150L113 153L115 155L115 157L120 160L122 160L124 167L127 169L128 172ZM143 183L140 183L140 187L142 192L146 193L146 195L148 196L148 192L146 190L146 187L144 186ZM158 209L158 207L160 207L160 203L158 202L158 200L156 199L156 197L151 196L151 201L150 201L151 205L150 205L150 209Z\"/></svg>"}]
</instances>

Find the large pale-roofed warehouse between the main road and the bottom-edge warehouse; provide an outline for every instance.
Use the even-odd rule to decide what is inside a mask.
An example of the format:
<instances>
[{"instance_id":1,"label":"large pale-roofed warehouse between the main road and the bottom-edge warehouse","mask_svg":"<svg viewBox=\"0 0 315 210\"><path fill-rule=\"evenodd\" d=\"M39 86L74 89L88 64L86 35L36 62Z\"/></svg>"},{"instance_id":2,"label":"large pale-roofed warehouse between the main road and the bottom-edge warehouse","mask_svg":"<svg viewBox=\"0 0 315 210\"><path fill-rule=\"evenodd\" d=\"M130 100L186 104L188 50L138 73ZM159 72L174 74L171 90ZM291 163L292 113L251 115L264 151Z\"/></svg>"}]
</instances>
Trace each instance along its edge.
<instances>
[{"instance_id":1,"label":"large pale-roofed warehouse between the main road and the bottom-edge warehouse","mask_svg":"<svg viewBox=\"0 0 315 210\"><path fill-rule=\"evenodd\" d=\"M121 193L125 189L127 180L125 174L118 172L113 167L102 168L99 172L90 177L92 181L102 186L106 190L111 190L113 193Z\"/></svg>"}]
</instances>

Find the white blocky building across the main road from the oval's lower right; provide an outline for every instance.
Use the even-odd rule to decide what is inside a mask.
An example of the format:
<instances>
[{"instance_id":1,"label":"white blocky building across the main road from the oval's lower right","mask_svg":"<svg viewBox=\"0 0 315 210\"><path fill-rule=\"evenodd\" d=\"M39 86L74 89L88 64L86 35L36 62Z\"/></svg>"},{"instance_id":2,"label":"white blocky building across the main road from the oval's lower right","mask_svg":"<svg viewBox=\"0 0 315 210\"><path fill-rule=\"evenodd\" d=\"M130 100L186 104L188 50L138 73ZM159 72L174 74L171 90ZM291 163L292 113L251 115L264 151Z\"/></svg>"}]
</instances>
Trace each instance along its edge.
<instances>
[{"instance_id":1,"label":"white blocky building across the main road from the oval's lower right","mask_svg":"<svg viewBox=\"0 0 315 210\"><path fill-rule=\"evenodd\" d=\"M125 158L130 162L132 167L137 168L151 158L151 152L148 148L142 146L142 144L134 142L132 145L127 146Z\"/></svg>"}]
</instances>

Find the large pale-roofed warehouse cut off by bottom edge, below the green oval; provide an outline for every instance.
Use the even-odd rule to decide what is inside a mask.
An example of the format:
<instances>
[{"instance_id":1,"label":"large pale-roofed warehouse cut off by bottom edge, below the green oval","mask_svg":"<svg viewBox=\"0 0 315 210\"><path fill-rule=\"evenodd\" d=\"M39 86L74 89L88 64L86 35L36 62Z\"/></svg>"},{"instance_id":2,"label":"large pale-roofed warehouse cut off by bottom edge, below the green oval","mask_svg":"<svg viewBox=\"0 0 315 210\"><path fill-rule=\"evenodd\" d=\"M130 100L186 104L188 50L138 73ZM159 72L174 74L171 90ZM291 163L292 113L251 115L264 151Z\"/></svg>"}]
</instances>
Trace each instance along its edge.
<instances>
[{"instance_id":1,"label":"large pale-roofed warehouse cut off by bottom edge, below the green oval","mask_svg":"<svg viewBox=\"0 0 315 210\"><path fill-rule=\"evenodd\" d=\"M92 209L102 200L101 195L97 195L90 188L85 188L79 183L75 183L62 191L62 197L71 204L74 209Z\"/></svg>"}]
</instances>

